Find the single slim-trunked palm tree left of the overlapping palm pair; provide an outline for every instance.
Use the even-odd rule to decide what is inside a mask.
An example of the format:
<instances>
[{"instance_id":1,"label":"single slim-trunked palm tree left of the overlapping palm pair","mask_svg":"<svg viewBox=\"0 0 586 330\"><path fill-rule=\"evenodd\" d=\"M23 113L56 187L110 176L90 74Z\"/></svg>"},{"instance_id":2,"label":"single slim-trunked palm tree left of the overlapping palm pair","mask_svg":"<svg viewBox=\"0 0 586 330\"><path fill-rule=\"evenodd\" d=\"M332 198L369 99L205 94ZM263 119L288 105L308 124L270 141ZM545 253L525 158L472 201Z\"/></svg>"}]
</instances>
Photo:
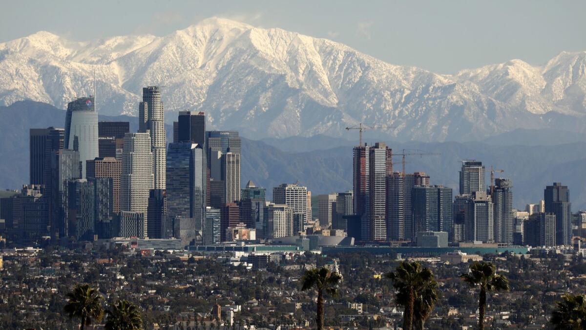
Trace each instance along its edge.
<instances>
[{"instance_id":1,"label":"single slim-trunked palm tree left of the overlapping palm pair","mask_svg":"<svg viewBox=\"0 0 586 330\"><path fill-rule=\"evenodd\" d=\"M323 292L325 291L332 297L335 297L338 294L337 287L340 280L342 280L340 275L336 272L331 272L325 267L305 271L301 279L301 289L303 291L315 289L318 292L318 315L316 317L318 330L323 328Z\"/></svg>"}]
</instances>

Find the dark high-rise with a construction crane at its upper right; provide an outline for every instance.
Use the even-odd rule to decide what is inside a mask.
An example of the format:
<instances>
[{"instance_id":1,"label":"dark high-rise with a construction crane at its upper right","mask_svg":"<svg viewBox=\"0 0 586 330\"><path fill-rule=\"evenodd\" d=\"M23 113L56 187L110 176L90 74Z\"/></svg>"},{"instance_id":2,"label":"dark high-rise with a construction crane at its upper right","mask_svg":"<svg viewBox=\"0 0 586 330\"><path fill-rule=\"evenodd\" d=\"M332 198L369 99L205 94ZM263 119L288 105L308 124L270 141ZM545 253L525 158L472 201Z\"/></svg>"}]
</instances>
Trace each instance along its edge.
<instances>
[{"instance_id":1,"label":"dark high-rise with a construction crane at its upper right","mask_svg":"<svg viewBox=\"0 0 586 330\"><path fill-rule=\"evenodd\" d=\"M495 242L513 244L513 192L509 179L495 179L492 203L495 205Z\"/></svg>"}]
</instances>

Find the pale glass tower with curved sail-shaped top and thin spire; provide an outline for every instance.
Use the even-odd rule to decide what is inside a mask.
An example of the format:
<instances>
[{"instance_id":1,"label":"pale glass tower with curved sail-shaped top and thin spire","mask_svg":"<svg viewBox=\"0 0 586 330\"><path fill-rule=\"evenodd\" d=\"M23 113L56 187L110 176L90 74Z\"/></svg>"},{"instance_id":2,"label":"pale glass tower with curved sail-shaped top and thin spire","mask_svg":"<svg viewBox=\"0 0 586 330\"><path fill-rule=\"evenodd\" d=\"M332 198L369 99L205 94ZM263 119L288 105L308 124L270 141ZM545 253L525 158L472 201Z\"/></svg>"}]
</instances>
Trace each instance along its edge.
<instances>
[{"instance_id":1,"label":"pale glass tower with curved sail-shaped top and thin spire","mask_svg":"<svg viewBox=\"0 0 586 330\"><path fill-rule=\"evenodd\" d=\"M99 157L98 113L94 97L79 97L67 104L64 149L79 151L81 179L86 179L86 160Z\"/></svg>"}]
</instances>

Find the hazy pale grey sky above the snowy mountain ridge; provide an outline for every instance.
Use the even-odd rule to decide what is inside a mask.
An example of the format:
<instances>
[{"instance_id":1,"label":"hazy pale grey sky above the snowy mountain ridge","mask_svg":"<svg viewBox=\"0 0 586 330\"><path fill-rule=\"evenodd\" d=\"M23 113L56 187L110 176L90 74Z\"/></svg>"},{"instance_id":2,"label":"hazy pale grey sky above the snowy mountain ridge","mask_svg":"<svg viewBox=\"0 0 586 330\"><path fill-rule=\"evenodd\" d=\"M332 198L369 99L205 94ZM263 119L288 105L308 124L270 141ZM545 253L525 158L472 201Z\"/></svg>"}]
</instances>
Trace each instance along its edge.
<instances>
[{"instance_id":1,"label":"hazy pale grey sky above the snowy mountain ridge","mask_svg":"<svg viewBox=\"0 0 586 330\"><path fill-rule=\"evenodd\" d=\"M399 65L454 73L586 50L586 1L0 0L0 42L45 30L74 40L166 35L211 16L329 38Z\"/></svg>"}]
</instances>

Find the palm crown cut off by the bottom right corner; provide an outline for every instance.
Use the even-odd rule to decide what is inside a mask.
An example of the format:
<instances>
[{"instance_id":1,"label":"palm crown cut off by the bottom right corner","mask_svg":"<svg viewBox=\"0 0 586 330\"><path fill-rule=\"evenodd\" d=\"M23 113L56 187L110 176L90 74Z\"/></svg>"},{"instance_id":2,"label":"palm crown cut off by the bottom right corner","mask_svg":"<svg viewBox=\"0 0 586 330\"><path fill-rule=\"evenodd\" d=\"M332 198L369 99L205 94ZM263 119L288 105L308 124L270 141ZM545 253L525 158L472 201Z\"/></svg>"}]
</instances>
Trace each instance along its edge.
<instances>
[{"instance_id":1,"label":"palm crown cut off by the bottom right corner","mask_svg":"<svg viewBox=\"0 0 586 330\"><path fill-rule=\"evenodd\" d=\"M555 329L586 329L586 296L565 295L551 313Z\"/></svg>"}]
</instances>

